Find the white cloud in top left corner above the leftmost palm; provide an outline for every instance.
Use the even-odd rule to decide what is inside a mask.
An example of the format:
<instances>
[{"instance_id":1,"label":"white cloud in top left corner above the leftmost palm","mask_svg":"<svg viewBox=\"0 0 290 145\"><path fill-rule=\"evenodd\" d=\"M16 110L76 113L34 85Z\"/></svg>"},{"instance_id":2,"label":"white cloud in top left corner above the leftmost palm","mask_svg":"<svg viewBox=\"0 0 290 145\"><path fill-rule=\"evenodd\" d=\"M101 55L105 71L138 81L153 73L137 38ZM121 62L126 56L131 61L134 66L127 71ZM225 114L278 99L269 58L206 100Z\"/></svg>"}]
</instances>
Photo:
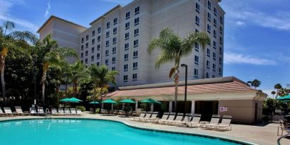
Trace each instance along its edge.
<instances>
[{"instance_id":1,"label":"white cloud in top left corner above the leftmost palm","mask_svg":"<svg viewBox=\"0 0 290 145\"><path fill-rule=\"evenodd\" d=\"M16 23L16 25L19 25L24 28L29 28L30 30L37 30L38 26L30 23L29 21L22 19L22 18L16 18L14 16L11 16L10 10L13 5L16 4L25 4L23 1L12 1L12 0L0 0L0 22L4 21L13 21Z\"/></svg>"}]
</instances>

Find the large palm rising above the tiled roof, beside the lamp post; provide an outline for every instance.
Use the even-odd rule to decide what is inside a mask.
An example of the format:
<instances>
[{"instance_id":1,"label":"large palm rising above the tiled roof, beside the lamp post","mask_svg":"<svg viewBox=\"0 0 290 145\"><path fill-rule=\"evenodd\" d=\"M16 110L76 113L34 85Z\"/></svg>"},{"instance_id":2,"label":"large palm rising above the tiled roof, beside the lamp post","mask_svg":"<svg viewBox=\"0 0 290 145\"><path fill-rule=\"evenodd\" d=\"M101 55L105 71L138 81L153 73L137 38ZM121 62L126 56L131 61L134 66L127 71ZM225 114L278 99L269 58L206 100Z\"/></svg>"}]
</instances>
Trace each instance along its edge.
<instances>
[{"instance_id":1,"label":"large palm rising above the tiled roof, beside the lamp post","mask_svg":"<svg viewBox=\"0 0 290 145\"><path fill-rule=\"evenodd\" d=\"M210 42L210 37L207 33L190 33L184 40L181 40L170 28L163 28L159 33L159 37L153 38L149 42L147 49L149 54L152 54L153 50L161 50L155 62L156 69L159 69L162 64L166 64L167 62L174 62L173 68L170 69L169 77L171 78L174 74L175 112L177 111L180 59L192 54L195 43L202 45L202 49L204 50L208 42Z\"/></svg>"}]
</instances>

